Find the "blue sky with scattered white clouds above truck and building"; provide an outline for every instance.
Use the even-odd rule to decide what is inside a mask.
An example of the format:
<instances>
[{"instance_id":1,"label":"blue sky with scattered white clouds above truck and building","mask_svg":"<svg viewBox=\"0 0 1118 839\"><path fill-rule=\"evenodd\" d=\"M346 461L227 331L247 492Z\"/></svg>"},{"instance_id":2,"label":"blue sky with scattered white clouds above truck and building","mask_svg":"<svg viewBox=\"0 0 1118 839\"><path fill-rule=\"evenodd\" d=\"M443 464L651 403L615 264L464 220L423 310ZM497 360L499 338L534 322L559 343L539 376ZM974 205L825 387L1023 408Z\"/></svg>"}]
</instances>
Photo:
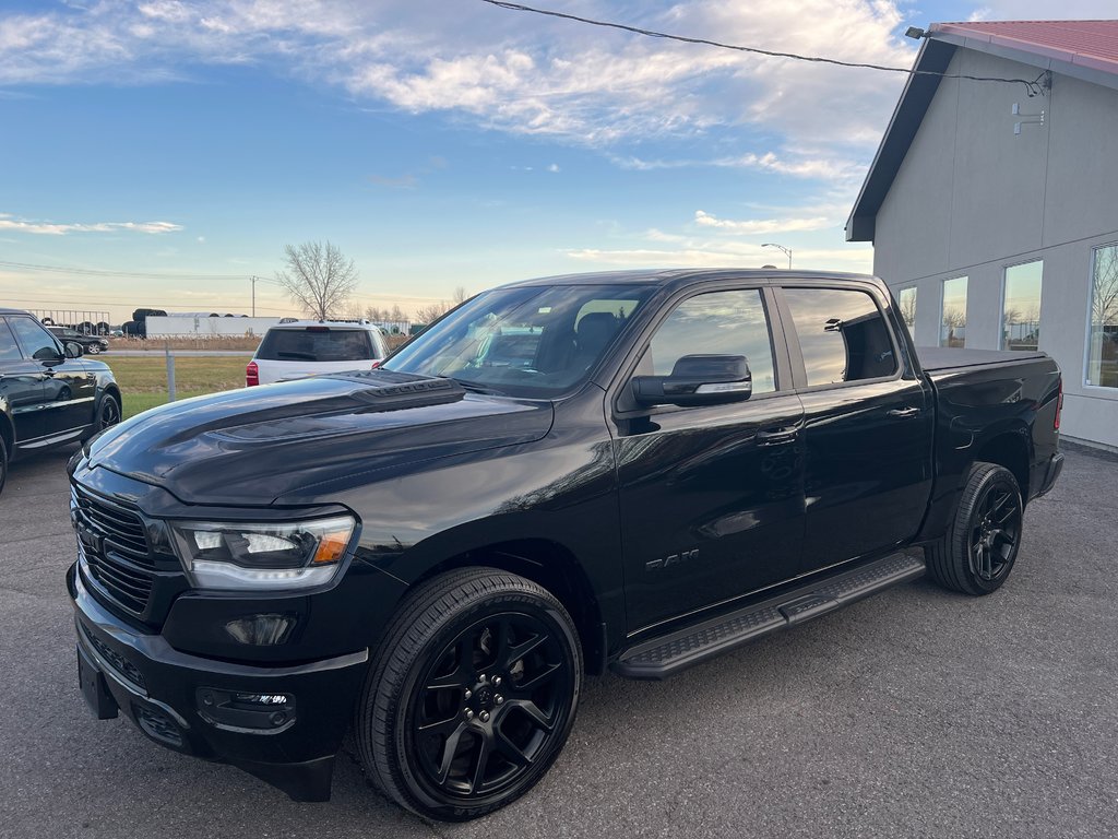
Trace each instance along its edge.
<instances>
[{"instance_id":1,"label":"blue sky with scattered white clouds above truck and building","mask_svg":"<svg viewBox=\"0 0 1118 839\"><path fill-rule=\"evenodd\" d=\"M529 4L899 66L909 25L1114 16L1110 0ZM247 311L247 277L312 239L354 260L357 303L405 310L551 273L783 265L766 242L798 267L869 271L842 227L902 84L479 0L6 0L0 304ZM294 309L262 283L257 312Z\"/></svg>"}]
</instances>

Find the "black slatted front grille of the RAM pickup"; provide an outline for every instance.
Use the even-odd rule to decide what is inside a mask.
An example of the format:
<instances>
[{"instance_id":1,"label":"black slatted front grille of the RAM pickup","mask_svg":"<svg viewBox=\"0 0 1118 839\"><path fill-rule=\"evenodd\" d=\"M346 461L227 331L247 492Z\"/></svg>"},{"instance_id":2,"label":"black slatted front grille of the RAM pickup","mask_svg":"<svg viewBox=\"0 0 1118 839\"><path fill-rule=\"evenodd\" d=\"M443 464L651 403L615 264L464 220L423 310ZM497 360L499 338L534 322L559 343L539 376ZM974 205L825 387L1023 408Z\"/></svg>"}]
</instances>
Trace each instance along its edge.
<instances>
[{"instance_id":1,"label":"black slatted front grille of the RAM pickup","mask_svg":"<svg viewBox=\"0 0 1118 839\"><path fill-rule=\"evenodd\" d=\"M143 521L132 510L76 484L70 510L89 576L117 605L142 614L154 579Z\"/></svg>"}]
</instances>

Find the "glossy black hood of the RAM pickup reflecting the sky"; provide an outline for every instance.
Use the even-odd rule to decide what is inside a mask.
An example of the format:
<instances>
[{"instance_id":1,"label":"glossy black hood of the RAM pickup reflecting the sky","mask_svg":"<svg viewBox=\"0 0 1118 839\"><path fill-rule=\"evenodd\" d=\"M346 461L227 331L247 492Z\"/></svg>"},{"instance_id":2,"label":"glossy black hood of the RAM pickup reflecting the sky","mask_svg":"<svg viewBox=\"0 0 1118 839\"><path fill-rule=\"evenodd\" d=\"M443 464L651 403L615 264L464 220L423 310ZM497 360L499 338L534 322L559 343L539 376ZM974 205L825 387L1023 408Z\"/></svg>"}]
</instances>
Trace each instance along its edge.
<instances>
[{"instance_id":1,"label":"glossy black hood of the RAM pickup reflecting the sky","mask_svg":"<svg viewBox=\"0 0 1118 839\"><path fill-rule=\"evenodd\" d=\"M186 503L313 502L436 458L539 440L552 417L548 402L466 393L453 379L334 374L148 411L97 436L88 465Z\"/></svg>"}]
</instances>

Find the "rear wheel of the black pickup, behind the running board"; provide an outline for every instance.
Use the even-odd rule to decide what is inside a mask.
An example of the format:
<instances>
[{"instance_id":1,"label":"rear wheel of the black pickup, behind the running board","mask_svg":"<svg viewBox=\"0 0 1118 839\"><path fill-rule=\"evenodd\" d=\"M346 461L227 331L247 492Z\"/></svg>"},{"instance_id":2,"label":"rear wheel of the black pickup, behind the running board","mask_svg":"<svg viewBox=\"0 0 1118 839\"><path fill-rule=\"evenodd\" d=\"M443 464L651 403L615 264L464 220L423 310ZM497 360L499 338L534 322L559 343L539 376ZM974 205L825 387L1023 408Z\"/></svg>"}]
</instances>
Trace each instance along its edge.
<instances>
[{"instance_id":1,"label":"rear wheel of the black pickup, behind the running board","mask_svg":"<svg viewBox=\"0 0 1118 839\"><path fill-rule=\"evenodd\" d=\"M1017 558L1023 517L1013 472L996 463L975 463L947 532L928 550L932 578L975 596L1001 588Z\"/></svg>"}]
</instances>

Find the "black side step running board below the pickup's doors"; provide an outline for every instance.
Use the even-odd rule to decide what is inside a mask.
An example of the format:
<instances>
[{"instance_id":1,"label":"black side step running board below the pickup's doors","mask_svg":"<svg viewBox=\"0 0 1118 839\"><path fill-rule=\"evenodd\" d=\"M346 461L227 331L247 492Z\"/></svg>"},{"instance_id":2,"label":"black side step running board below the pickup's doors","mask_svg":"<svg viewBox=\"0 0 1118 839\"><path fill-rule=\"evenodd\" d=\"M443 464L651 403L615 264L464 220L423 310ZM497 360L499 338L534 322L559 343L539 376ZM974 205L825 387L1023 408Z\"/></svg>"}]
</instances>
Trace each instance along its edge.
<instances>
[{"instance_id":1,"label":"black side step running board below the pickup's doors","mask_svg":"<svg viewBox=\"0 0 1118 839\"><path fill-rule=\"evenodd\" d=\"M893 554L815 579L738 612L626 650L613 670L629 679L666 679L680 670L785 626L803 623L923 575L923 556Z\"/></svg>"}]
</instances>

